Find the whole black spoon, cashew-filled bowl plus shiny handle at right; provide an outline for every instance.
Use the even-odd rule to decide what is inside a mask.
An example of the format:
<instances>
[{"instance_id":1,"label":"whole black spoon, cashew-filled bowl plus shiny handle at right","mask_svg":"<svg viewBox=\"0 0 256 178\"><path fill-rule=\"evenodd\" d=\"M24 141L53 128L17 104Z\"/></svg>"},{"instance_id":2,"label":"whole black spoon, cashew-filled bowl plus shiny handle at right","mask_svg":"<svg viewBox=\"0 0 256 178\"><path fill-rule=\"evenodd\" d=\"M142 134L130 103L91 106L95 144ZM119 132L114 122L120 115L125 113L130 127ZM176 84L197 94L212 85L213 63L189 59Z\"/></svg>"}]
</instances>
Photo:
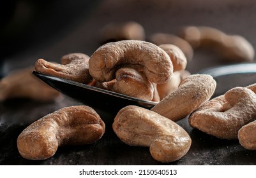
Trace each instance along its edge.
<instances>
[{"instance_id":1,"label":"whole black spoon, cashew-filled bowl plus shiny handle at right","mask_svg":"<svg viewBox=\"0 0 256 178\"><path fill-rule=\"evenodd\" d=\"M120 93L103 90L68 79L56 78L35 71L33 74L64 95L100 111L116 113L128 105L142 106L150 109L157 104L157 102L129 97ZM218 96L236 86L248 86L256 83L256 64L234 64L211 67L199 71L199 74L213 76L217 83L214 96Z\"/></svg>"}]
</instances>

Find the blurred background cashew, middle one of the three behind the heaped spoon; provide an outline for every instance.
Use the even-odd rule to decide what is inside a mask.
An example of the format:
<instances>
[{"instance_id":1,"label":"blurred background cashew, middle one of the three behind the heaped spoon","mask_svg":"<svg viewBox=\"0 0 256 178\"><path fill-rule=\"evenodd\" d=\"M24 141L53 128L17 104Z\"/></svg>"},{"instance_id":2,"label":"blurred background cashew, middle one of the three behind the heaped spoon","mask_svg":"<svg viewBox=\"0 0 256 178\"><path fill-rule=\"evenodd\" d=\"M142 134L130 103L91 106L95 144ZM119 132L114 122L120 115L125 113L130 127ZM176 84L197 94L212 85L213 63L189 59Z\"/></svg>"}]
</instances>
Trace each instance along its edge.
<instances>
[{"instance_id":1,"label":"blurred background cashew, middle one of the three behind the heaped spoon","mask_svg":"<svg viewBox=\"0 0 256 178\"><path fill-rule=\"evenodd\" d=\"M180 38L179 36L175 36L173 34L156 33L150 36L149 41L156 45L174 44L175 46L179 47L181 51L183 51L188 61L192 60L193 58L194 52L192 46L190 45L190 43Z\"/></svg>"}]
</instances>

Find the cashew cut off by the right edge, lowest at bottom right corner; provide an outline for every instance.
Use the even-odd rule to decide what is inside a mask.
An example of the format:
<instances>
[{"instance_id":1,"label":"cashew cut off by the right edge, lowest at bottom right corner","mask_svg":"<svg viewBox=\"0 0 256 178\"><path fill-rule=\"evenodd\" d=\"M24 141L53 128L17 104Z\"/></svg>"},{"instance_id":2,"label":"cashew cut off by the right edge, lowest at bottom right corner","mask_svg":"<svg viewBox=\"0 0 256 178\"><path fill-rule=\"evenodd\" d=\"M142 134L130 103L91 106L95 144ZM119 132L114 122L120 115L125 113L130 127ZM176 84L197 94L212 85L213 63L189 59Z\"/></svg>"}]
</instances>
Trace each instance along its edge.
<instances>
[{"instance_id":1,"label":"cashew cut off by the right edge, lowest at bottom right corner","mask_svg":"<svg viewBox=\"0 0 256 178\"><path fill-rule=\"evenodd\" d=\"M246 149L256 150L256 121L244 125L238 131L238 140Z\"/></svg>"}]
</instances>

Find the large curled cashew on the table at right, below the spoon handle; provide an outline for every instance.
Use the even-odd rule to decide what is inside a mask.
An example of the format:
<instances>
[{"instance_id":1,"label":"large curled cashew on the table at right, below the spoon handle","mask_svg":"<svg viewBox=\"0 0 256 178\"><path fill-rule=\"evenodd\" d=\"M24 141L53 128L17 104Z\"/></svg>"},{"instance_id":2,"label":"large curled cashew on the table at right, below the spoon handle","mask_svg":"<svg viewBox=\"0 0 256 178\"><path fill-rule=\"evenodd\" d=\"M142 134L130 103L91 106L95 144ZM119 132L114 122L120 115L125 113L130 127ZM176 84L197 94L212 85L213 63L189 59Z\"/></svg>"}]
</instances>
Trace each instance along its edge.
<instances>
[{"instance_id":1,"label":"large curled cashew on the table at right, below the spoon handle","mask_svg":"<svg viewBox=\"0 0 256 178\"><path fill-rule=\"evenodd\" d=\"M256 95L236 87L210 100L189 117L190 126L220 139L237 139L238 130L256 118Z\"/></svg>"}]
</instances>

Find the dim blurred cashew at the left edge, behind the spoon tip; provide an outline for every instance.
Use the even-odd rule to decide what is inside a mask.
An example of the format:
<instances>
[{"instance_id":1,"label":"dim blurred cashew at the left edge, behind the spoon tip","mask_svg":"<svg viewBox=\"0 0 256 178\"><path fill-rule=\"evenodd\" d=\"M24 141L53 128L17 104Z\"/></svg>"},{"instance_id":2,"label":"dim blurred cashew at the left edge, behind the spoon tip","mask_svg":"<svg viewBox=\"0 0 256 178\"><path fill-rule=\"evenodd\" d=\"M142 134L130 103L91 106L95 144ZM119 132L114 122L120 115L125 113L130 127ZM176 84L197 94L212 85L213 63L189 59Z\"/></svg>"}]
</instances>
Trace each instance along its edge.
<instances>
[{"instance_id":1,"label":"dim blurred cashew at the left edge, behind the spoon tip","mask_svg":"<svg viewBox=\"0 0 256 178\"><path fill-rule=\"evenodd\" d=\"M0 101L26 98L40 102L53 102L60 93L33 76L34 68L17 69L0 80Z\"/></svg>"}]
</instances>

